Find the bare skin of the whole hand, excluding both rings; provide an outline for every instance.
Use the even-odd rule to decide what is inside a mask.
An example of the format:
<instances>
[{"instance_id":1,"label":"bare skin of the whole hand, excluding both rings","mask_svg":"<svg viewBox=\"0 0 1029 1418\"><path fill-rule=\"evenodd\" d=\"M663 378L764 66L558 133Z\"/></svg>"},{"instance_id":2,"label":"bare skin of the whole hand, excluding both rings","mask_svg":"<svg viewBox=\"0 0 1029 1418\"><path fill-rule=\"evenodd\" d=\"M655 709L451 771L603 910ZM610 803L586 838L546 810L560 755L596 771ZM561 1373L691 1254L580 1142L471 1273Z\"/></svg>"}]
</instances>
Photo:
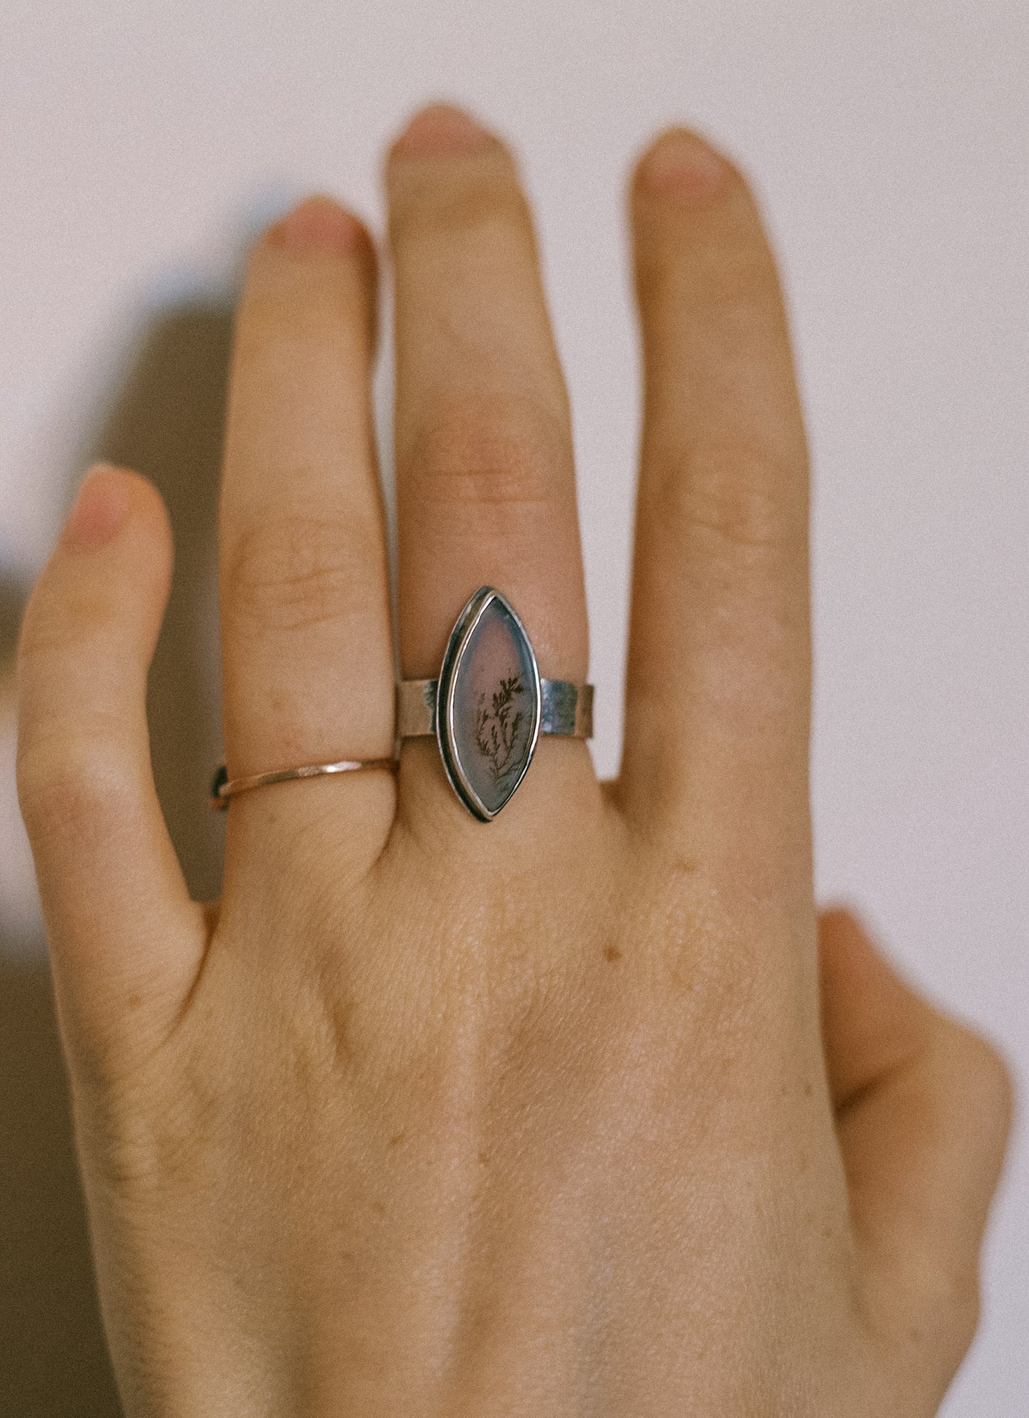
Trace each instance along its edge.
<instances>
[{"instance_id":1,"label":"bare skin of the whole hand, excluding both rings","mask_svg":"<svg viewBox=\"0 0 1029 1418\"><path fill-rule=\"evenodd\" d=\"M480 584L588 666L572 437L504 146L387 162L399 659ZM233 801L189 900L145 685L172 570L84 484L20 657L23 811L131 1418L928 1415L976 1322L994 1049L812 896L805 437L745 182L632 183L644 354L623 771L546 739L488 827L430 740ZM389 754L375 254L311 199L253 252L221 495L233 777ZM345 706L345 713L341 713Z\"/></svg>"}]
</instances>

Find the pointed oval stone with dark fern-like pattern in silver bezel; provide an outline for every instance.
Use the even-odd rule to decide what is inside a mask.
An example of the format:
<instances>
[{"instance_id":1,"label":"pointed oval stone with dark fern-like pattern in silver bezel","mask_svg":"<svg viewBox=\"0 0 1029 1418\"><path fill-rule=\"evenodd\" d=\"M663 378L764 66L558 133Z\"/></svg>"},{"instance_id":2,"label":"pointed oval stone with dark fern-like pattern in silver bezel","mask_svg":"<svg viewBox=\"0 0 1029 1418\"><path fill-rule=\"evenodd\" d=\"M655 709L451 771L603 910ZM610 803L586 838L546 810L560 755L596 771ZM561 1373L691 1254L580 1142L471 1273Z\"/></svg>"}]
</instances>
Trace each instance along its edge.
<instances>
[{"instance_id":1,"label":"pointed oval stone with dark fern-like pattern in silver bezel","mask_svg":"<svg viewBox=\"0 0 1029 1418\"><path fill-rule=\"evenodd\" d=\"M480 820L494 818L525 777L539 710L532 644L510 603L484 586L450 637L436 716L447 777Z\"/></svg>"}]
</instances>

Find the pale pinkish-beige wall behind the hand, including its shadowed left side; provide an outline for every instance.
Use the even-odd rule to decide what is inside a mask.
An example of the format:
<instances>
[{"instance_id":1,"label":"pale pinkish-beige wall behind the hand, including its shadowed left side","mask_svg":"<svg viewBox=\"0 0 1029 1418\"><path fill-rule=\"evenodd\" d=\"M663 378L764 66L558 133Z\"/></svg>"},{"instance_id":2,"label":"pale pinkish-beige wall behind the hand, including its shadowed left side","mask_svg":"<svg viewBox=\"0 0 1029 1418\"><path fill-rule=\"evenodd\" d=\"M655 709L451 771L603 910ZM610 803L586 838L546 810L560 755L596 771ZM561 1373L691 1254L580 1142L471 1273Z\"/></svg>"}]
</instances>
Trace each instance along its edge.
<instances>
[{"instance_id":1,"label":"pale pinkish-beige wall behind the hand, including its shadowed left side","mask_svg":"<svg viewBox=\"0 0 1029 1418\"><path fill-rule=\"evenodd\" d=\"M309 187L380 225L437 95L518 146L576 417L599 696L620 733L637 364L622 184L701 123L749 167L816 467L818 875L1029 1065L1029 11L1023 0L4 0L0 7L0 1414L114 1414L13 805L9 661L87 457L179 543L155 764L194 889L219 827L211 515L229 306ZM380 407L389 400L383 366ZM1020 1061L1020 1062L1019 1062ZM1025 1129L948 1418L1029 1411Z\"/></svg>"}]
</instances>

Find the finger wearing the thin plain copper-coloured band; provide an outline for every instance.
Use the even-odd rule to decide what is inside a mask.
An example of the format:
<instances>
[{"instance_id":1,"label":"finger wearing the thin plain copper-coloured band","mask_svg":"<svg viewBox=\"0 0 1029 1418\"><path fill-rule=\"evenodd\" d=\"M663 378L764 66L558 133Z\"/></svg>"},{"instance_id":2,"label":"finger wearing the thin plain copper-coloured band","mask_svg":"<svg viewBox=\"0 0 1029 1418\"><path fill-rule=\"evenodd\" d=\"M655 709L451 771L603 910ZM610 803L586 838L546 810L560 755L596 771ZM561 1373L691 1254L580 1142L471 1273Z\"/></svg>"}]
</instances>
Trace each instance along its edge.
<instances>
[{"instance_id":1,"label":"finger wearing the thin plain copper-coloured band","mask_svg":"<svg viewBox=\"0 0 1029 1418\"><path fill-rule=\"evenodd\" d=\"M342 207L309 199L258 242L237 318L221 489L231 777L392 752L373 319L373 251ZM389 793L387 774L348 774L334 798L358 794L365 811L368 777L373 794ZM275 788L277 807L319 788Z\"/></svg>"}]
</instances>

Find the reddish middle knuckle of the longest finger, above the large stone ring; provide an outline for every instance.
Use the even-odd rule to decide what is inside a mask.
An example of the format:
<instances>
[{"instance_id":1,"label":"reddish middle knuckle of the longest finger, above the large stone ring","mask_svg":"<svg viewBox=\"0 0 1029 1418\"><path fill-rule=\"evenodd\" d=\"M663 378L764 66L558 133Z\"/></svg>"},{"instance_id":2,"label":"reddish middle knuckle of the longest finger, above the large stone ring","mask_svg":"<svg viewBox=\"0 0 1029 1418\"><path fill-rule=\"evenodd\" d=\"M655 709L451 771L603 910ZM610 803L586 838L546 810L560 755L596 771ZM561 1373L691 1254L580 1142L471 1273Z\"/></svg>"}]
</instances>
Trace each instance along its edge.
<instances>
[{"instance_id":1,"label":"reddish middle knuckle of the longest finger, above the large stone ring","mask_svg":"<svg viewBox=\"0 0 1029 1418\"><path fill-rule=\"evenodd\" d=\"M536 400L467 398L439 407L412 441L407 467L423 506L538 508L571 468L559 418Z\"/></svg>"}]
</instances>

